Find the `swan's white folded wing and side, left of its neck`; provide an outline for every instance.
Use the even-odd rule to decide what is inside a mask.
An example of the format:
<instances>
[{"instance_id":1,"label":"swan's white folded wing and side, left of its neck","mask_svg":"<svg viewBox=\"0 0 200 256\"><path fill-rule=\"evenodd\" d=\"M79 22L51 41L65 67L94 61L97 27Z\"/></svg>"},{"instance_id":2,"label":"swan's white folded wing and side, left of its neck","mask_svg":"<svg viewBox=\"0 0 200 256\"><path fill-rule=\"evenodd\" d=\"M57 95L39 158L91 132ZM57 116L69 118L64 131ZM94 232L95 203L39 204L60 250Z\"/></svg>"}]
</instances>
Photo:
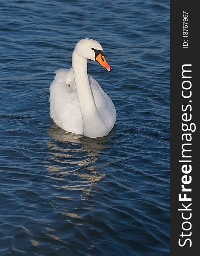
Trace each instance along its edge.
<instances>
[{"instance_id":1,"label":"swan's white folded wing and side, left of its neck","mask_svg":"<svg viewBox=\"0 0 200 256\"><path fill-rule=\"evenodd\" d=\"M50 90L50 116L63 130L83 133L83 120L77 100L72 69L56 71Z\"/></svg>"}]
</instances>

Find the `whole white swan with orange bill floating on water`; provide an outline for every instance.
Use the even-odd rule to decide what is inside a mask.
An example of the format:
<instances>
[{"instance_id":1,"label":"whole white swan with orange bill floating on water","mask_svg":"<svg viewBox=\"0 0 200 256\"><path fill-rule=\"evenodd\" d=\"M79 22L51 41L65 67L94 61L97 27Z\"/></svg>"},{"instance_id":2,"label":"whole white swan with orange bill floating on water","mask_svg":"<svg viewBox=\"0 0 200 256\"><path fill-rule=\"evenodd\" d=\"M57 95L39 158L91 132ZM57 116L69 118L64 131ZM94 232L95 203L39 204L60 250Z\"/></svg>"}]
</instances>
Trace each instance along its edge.
<instances>
[{"instance_id":1,"label":"whole white swan with orange bill floating on water","mask_svg":"<svg viewBox=\"0 0 200 256\"><path fill-rule=\"evenodd\" d=\"M114 126L116 110L98 82L88 75L88 59L112 71L100 43L90 38L80 40L72 53L72 68L57 70L50 85L49 113L65 131L104 137Z\"/></svg>"}]
</instances>

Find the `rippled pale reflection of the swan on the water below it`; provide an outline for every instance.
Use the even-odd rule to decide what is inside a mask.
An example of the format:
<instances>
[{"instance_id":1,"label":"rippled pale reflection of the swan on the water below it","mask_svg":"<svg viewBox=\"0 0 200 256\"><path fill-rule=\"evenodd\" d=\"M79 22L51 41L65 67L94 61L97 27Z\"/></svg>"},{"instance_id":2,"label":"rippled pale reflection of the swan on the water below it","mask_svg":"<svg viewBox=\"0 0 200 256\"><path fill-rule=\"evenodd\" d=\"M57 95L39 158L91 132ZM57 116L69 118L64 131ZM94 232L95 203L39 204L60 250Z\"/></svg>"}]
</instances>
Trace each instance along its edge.
<instances>
[{"instance_id":1,"label":"rippled pale reflection of the swan on the water below it","mask_svg":"<svg viewBox=\"0 0 200 256\"><path fill-rule=\"evenodd\" d=\"M94 183L101 180L105 174L97 171L95 163L98 154L111 147L109 139L115 134L114 129L109 137L91 139L80 134L72 134L59 128L51 122L47 134L51 140L47 141L49 149L49 161L46 168L53 178L63 180L65 183L59 186L60 189L82 190L89 192Z\"/></svg>"}]
</instances>

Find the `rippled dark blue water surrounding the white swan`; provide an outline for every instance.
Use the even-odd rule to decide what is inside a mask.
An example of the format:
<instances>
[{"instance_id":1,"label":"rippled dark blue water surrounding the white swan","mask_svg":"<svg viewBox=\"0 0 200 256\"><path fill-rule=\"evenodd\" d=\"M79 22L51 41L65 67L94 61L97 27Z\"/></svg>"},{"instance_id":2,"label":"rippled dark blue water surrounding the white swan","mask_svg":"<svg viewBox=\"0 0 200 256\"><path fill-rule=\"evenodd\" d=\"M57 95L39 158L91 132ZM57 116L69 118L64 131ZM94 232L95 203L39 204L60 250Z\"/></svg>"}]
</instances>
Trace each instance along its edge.
<instances>
[{"instance_id":1,"label":"rippled dark blue water surrounding the white swan","mask_svg":"<svg viewBox=\"0 0 200 256\"><path fill-rule=\"evenodd\" d=\"M0 255L169 256L169 1L0 2ZM58 128L54 71L82 38L117 111L107 137Z\"/></svg>"}]
</instances>

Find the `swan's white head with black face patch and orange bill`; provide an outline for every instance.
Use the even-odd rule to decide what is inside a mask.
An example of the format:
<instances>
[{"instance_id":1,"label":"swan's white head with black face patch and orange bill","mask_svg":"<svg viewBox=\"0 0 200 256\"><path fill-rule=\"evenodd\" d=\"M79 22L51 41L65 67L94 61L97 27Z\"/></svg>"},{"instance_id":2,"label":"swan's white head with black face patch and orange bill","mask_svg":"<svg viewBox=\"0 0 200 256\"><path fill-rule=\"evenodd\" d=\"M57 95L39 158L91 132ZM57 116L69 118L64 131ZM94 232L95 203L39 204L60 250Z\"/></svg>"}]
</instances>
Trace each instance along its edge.
<instances>
[{"instance_id":1,"label":"swan's white head with black face patch and orange bill","mask_svg":"<svg viewBox=\"0 0 200 256\"><path fill-rule=\"evenodd\" d=\"M97 61L106 70L108 70L109 72L112 71L111 67L106 62L102 46L99 42L93 39L85 38L78 41L74 48L73 54L74 53L76 53L82 58Z\"/></svg>"}]
</instances>

